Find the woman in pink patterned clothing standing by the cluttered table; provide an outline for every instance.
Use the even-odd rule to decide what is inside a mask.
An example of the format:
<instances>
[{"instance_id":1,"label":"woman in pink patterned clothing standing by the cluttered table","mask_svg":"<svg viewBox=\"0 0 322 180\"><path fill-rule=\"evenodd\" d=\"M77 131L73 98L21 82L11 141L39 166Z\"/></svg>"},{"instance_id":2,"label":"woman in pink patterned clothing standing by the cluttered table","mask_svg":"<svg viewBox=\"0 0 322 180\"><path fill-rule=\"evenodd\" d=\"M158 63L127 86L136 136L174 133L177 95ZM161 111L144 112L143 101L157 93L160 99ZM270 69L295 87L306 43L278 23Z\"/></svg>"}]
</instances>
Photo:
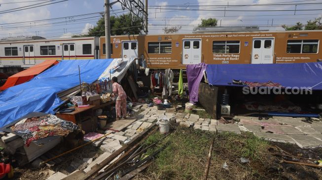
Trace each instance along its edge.
<instances>
[{"instance_id":1,"label":"woman in pink patterned clothing standing by the cluttered table","mask_svg":"<svg viewBox=\"0 0 322 180\"><path fill-rule=\"evenodd\" d=\"M113 96L116 96L115 110L116 110L116 120L119 120L121 114L123 119L126 119L126 93L122 86L117 83L117 77L112 78L113 84ZM121 113L122 111L122 113Z\"/></svg>"}]
</instances>

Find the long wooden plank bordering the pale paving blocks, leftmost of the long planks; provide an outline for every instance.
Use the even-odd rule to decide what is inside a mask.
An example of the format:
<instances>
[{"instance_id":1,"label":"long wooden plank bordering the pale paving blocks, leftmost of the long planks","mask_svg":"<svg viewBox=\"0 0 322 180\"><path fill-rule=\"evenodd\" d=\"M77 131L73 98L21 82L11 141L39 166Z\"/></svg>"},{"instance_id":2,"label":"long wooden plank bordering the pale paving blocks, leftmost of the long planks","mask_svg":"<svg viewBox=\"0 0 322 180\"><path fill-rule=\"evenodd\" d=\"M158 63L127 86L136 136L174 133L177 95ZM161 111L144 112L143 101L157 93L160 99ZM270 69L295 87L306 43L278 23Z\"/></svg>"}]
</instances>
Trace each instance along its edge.
<instances>
[{"instance_id":1,"label":"long wooden plank bordering the pale paving blocks, leftmost of the long planks","mask_svg":"<svg viewBox=\"0 0 322 180\"><path fill-rule=\"evenodd\" d=\"M87 179L89 179L94 174L99 172L102 168L104 168L113 159L115 159L120 153L122 153L123 151L129 149L139 138L141 138L154 125L155 125L155 123L151 124L142 133L140 133L138 136L136 136L131 141L129 141L129 143L127 145L124 145L122 148L120 148L120 149L116 150L115 152L113 152L103 162L101 162L100 164L94 165L89 172L85 173L84 171L78 171L76 173L70 174L69 176L67 176L66 178L64 178L62 180L87 180Z\"/></svg>"}]
</instances>

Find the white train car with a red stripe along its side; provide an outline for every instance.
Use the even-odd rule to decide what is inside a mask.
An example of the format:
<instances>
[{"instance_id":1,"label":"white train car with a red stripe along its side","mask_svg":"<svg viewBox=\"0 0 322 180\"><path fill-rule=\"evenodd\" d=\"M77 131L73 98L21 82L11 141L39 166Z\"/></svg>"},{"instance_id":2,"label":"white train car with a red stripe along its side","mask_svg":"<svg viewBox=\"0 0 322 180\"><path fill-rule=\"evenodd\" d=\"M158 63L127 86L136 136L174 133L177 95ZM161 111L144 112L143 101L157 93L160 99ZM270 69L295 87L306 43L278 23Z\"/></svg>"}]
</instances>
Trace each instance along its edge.
<instances>
[{"instance_id":1,"label":"white train car with a red stripe along its side","mask_svg":"<svg viewBox=\"0 0 322 180\"><path fill-rule=\"evenodd\" d=\"M14 74L44 60L99 59L99 37L0 40L0 72Z\"/></svg>"}]
</instances>

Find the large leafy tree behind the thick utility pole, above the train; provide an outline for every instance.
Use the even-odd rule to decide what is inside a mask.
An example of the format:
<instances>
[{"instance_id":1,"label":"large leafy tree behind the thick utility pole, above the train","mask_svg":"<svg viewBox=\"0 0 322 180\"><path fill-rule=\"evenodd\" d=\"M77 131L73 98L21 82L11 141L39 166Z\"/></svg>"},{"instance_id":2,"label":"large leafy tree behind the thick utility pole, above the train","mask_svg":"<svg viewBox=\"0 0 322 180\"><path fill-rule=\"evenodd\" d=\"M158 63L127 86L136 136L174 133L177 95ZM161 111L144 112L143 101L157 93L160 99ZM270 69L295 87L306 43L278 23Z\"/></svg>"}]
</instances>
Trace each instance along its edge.
<instances>
[{"instance_id":1,"label":"large leafy tree behind the thick utility pole, above the train","mask_svg":"<svg viewBox=\"0 0 322 180\"><path fill-rule=\"evenodd\" d=\"M103 15L102 15L103 16ZM88 34L73 35L72 37L83 36L105 36L105 20L104 17L100 18L94 28L89 29ZM142 22L136 16L132 16L131 13L122 14L120 16L110 17L111 35L131 35L142 34L143 26Z\"/></svg>"}]
</instances>

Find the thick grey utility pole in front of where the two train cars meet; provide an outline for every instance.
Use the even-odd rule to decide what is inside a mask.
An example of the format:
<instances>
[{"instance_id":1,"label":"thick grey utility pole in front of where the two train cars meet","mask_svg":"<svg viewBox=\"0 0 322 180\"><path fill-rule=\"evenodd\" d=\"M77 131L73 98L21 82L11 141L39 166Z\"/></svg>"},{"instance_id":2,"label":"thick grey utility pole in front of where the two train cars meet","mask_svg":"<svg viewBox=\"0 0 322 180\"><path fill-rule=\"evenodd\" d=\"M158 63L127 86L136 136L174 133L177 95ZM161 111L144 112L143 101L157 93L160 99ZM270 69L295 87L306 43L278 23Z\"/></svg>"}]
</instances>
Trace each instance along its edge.
<instances>
[{"instance_id":1,"label":"thick grey utility pole in front of where the two train cars meet","mask_svg":"<svg viewBox=\"0 0 322 180\"><path fill-rule=\"evenodd\" d=\"M109 0L105 0L105 52L106 52L106 59L110 59L110 24L109 24Z\"/></svg>"}]
</instances>

